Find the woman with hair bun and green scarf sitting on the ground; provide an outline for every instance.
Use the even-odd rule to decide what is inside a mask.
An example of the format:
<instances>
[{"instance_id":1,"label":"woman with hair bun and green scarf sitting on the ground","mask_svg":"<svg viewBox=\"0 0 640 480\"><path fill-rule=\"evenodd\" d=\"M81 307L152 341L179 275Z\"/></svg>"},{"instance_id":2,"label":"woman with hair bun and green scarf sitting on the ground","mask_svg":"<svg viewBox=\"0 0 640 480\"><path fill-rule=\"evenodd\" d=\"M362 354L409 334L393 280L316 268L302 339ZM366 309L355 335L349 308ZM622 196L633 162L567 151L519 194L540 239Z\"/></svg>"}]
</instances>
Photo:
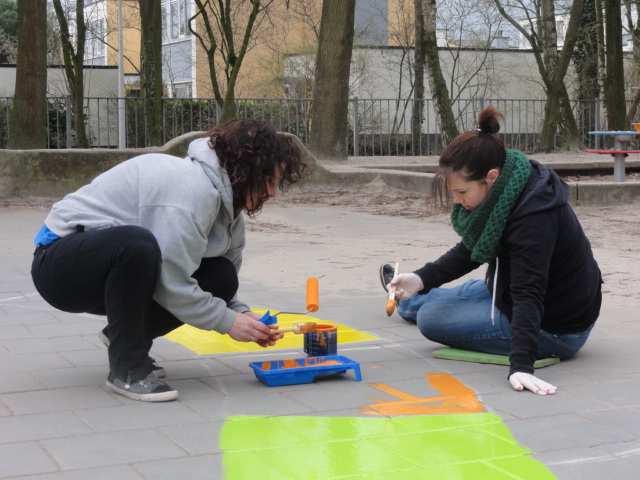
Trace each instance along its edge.
<instances>
[{"instance_id":1,"label":"woman with hair bun and green scarf sitting on the ground","mask_svg":"<svg viewBox=\"0 0 640 480\"><path fill-rule=\"evenodd\" d=\"M398 313L422 334L456 348L509 355L516 390L556 387L533 375L536 358L570 358L600 312L601 274L551 170L506 150L495 135L500 114L480 113L477 131L456 137L440 157L462 241L432 263L383 281L401 299ZM436 288L489 264L485 281Z\"/></svg>"}]
</instances>

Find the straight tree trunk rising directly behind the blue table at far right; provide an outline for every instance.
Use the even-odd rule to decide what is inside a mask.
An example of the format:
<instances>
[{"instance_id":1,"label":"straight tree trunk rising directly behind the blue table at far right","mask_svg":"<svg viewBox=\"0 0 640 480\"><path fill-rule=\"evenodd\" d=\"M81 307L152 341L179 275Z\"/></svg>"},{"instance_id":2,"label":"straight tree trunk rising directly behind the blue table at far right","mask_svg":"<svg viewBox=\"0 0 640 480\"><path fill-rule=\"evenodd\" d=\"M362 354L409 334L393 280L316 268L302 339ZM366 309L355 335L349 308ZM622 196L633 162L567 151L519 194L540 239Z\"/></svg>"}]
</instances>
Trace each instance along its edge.
<instances>
[{"instance_id":1,"label":"straight tree trunk rising directly behind the blue table at far right","mask_svg":"<svg viewBox=\"0 0 640 480\"><path fill-rule=\"evenodd\" d=\"M627 108L624 95L624 69L622 65L622 19L620 0L605 0L605 37L607 45L607 128L625 130Z\"/></svg>"}]
</instances>

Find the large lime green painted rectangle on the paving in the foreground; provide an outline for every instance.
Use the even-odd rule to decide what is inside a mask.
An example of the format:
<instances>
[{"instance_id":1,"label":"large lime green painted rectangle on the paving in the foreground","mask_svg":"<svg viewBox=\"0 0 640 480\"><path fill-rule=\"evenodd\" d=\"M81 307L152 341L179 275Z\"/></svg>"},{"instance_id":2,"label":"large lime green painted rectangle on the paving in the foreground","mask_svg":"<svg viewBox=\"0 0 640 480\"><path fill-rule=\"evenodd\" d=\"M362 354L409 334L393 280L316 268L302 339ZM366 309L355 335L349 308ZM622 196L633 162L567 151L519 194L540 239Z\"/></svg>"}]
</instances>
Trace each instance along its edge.
<instances>
[{"instance_id":1,"label":"large lime green painted rectangle on the paving in the foreground","mask_svg":"<svg viewBox=\"0 0 640 480\"><path fill-rule=\"evenodd\" d=\"M230 417L220 437L227 480L550 480L492 413Z\"/></svg>"}]
</instances>

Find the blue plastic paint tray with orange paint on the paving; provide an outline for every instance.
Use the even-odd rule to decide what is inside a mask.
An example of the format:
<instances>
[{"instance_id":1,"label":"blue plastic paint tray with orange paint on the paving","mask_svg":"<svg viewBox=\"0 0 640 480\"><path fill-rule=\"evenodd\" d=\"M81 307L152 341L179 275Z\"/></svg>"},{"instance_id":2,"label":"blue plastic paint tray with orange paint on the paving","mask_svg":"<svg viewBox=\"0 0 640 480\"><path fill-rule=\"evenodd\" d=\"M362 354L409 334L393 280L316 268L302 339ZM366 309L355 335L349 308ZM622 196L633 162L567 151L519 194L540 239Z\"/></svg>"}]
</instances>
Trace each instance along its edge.
<instances>
[{"instance_id":1,"label":"blue plastic paint tray with orange paint on the paving","mask_svg":"<svg viewBox=\"0 0 640 480\"><path fill-rule=\"evenodd\" d=\"M342 355L267 360L252 362L249 366L258 380L270 387L312 383L318 378L338 375L347 370L353 370L357 382L362 380L360 364Z\"/></svg>"}]
</instances>

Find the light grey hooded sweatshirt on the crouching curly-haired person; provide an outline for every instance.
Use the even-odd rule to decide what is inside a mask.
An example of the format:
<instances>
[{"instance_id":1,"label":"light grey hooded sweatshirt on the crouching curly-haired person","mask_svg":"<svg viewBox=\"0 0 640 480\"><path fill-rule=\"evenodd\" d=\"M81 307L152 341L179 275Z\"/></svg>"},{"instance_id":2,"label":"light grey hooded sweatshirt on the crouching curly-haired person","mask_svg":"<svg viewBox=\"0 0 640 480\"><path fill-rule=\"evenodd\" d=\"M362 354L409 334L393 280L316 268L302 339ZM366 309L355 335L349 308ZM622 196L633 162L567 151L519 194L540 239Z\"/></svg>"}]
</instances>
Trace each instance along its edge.
<instances>
[{"instance_id":1,"label":"light grey hooded sweatshirt on the crouching curly-haired person","mask_svg":"<svg viewBox=\"0 0 640 480\"><path fill-rule=\"evenodd\" d=\"M154 300L184 323L226 333L249 307L235 297L227 305L191 275L205 257L226 257L239 271L245 227L242 213L234 219L229 177L207 142L191 142L185 158L151 153L116 165L54 204L45 224L60 237L79 225L150 230L162 252Z\"/></svg>"}]
</instances>

